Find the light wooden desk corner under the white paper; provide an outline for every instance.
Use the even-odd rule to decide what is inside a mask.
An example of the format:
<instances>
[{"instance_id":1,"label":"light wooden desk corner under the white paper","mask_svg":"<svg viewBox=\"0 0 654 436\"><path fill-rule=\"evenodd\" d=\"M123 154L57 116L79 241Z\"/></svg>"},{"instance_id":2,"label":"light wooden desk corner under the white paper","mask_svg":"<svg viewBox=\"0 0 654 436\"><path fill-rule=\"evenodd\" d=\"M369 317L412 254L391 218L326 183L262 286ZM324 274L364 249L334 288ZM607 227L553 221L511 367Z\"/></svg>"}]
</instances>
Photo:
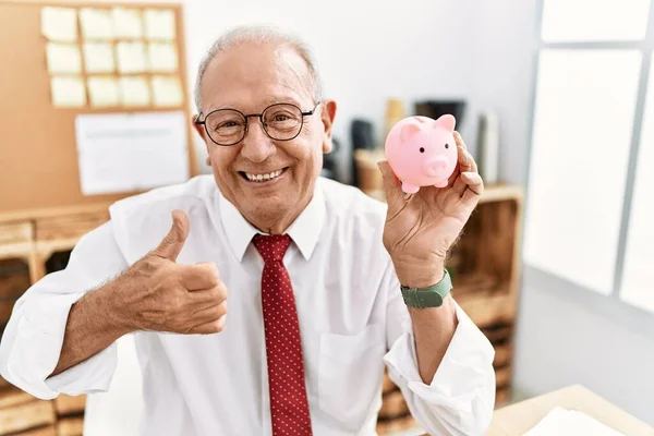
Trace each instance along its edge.
<instances>
[{"instance_id":1,"label":"light wooden desk corner under the white paper","mask_svg":"<svg viewBox=\"0 0 654 436\"><path fill-rule=\"evenodd\" d=\"M627 436L654 436L654 428L579 385L496 410L487 435L522 436L555 405L577 409Z\"/></svg>"}]
</instances>

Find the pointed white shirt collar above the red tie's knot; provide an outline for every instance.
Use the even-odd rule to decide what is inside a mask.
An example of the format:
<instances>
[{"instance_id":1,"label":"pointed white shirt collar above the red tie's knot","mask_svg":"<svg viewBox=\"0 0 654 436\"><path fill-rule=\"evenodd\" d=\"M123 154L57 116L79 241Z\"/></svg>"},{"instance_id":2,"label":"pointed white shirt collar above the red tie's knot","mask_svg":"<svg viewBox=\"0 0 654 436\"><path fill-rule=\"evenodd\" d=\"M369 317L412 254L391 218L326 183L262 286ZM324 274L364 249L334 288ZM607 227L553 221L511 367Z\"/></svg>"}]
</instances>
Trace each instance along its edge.
<instances>
[{"instance_id":1,"label":"pointed white shirt collar above the red tie's knot","mask_svg":"<svg viewBox=\"0 0 654 436\"><path fill-rule=\"evenodd\" d=\"M261 231L252 226L241 215L239 209L222 195L219 195L218 208L227 240L234 256L241 262L245 255L247 245L252 242L252 238L261 233ZM318 178L314 184L314 195L308 205L306 205L300 216L287 229L287 234L291 237L307 261L318 242L325 220L325 196L320 179Z\"/></svg>"}]
</instances>

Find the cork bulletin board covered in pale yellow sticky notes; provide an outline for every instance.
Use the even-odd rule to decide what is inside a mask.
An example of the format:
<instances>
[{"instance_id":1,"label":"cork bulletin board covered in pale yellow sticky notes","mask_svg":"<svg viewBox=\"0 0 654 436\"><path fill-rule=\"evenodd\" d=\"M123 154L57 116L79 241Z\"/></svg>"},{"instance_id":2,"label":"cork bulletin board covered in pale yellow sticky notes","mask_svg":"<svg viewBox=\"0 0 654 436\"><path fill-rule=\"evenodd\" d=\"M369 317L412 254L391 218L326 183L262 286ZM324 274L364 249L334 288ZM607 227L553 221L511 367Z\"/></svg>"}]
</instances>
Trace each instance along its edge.
<instances>
[{"instance_id":1,"label":"cork bulletin board covered in pale yellow sticky notes","mask_svg":"<svg viewBox=\"0 0 654 436\"><path fill-rule=\"evenodd\" d=\"M68 10L69 17L73 10L75 40L50 39L44 31L45 9ZM126 25L126 34L87 39L89 32L102 38L102 22L95 16L84 22L82 11L113 16L114 9L132 24L136 19L144 23L142 34L130 35ZM197 174L182 13L182 5L175 3L0 0L0 213L108 203L137 193L83 193L75 122L84 114L183 114L187 174ZM147 16L168 20L171 32L161 36L157 35L161 28L148 29ZM60 17L64 15L57 23ZM61 37L61 28L57 32ZM96 43L90 50L94 59L87 59L85 46ZM145 65L130 55L134 47L146 50ZM159 65L148 61L153 52ZM114 59L107 61L108 57ZM171 84L175 85L172 93ZM60 86L64 93L56 92ZM157 96L157 86L168 90ZM152 162L157 166L156 157Z\"/></svg>"}]
</instances>

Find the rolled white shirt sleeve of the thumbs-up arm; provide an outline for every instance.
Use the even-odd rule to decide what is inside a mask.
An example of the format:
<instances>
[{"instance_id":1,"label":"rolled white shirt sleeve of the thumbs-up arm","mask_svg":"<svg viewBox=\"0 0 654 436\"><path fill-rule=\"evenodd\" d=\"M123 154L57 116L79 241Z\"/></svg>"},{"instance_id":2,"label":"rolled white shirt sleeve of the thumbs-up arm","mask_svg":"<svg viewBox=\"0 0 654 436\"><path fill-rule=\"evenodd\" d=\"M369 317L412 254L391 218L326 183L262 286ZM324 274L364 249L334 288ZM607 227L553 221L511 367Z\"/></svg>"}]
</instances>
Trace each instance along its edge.
<instances>
[{"instance_id":1,"label":"rolled white shirt sleeve of the thumbs-up arm","mask_svg":"<svg viewBox=\"0 0 654 436\"><path fill-rule=\"evenodd\" d=\"M0 375L40 399L107 391L117 365L116 343L48 376L59 362L71 306L126 266L111 222L84 235L65 269L44 277L16 301L0 343Z\"/></svg>"}]
</instances>

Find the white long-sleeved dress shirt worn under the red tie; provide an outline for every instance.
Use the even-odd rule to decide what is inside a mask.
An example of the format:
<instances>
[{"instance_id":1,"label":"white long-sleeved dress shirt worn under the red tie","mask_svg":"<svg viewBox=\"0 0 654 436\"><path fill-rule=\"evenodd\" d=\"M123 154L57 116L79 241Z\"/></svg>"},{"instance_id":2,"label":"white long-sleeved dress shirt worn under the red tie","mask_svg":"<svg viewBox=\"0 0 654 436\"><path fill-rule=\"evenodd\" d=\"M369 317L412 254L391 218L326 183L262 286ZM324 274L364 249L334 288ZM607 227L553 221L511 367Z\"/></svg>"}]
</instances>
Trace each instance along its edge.
<instances>
[{"instance_id":1,"label":"white long-sleeved dress shirt worn under the red tie","mask_svg":"<svg viewBox=\"0 0 654 436\"><path fill-rule=\"evenodd\" d=\"M157 189L110 207L111 220L84 235L64 270L16 303L0 346L0 373L43 399L105 392L117 343L47 378L59 360L71 305L161 241L172 209L191 231L179 263L214 262L229 292L216 335L132 334L143 380L141 434L270 435L257 230L221 196L211 175ZM431 435L482 435L495 400L494 350L457 305L459 325L434 379L419 375L411 318L382 243L385 204L318 179L288 229L283 263L295 294L306 389L316 436L375 435L384 364Z\"/></svg>"}]
</instances>

